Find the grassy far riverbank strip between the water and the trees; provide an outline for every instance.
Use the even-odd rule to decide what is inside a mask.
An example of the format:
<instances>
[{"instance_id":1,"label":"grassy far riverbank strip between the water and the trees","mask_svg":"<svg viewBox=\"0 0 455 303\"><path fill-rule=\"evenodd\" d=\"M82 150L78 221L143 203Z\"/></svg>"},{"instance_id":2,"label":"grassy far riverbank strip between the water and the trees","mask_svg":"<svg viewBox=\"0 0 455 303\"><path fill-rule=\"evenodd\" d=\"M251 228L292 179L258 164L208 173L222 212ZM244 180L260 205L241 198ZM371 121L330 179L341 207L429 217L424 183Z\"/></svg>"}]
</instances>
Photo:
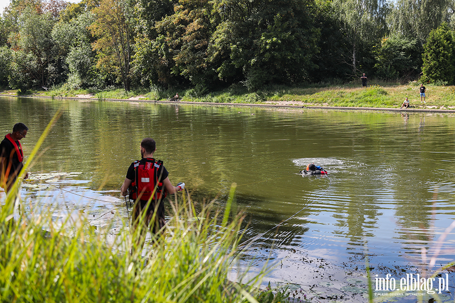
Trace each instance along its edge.
<instances>
[{"instance_id":1,"label":"grassy far riverbank strip between the water and the trees","mask_svg":"<svg viewBox=\"0 0 455 303\"><path fill-rule=\"evenodd\" d=\"M109 98L133 100L168 100L178 92L180 100L190 102L276 104L297 106L337 106L337 107L372 107L399 108L408 97L411 108L453 109L455 108L455 86L427 84L426 103L421 103L419 82L408 84L372 81L366 88L359 83L348 84L313 84L301 87L272 86L261 91L248 92L242 85L211 92L197 94L193 89L164 90L160 88L140 89L125 92L123 89L67 90L63 87L48 91L27 91L27 95L46 95L54 97L87 97L104 100ZM2 94L17 95L18 91L8 90Z\"/></svg>"}]
</instances>

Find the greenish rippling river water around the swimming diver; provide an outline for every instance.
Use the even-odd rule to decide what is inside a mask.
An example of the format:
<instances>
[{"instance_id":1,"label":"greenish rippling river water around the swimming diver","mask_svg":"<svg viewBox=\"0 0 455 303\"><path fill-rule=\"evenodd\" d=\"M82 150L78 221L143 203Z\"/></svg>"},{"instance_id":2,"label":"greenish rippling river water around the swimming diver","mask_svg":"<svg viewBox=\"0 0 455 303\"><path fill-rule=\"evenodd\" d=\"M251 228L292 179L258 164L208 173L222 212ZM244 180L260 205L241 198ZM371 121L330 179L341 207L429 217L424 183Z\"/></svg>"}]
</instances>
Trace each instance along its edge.
<instances>
[{"instance_id":1,"label":"greenish rippling river water around the swimming diver","mask_svg":"<svg viewBox=\"0 0 455 303\"><path fill-rule=\"evenodd\" d=\"M62 110L22 187L25 203L53 204L56 218L84 213L101 228L126 218L119 188L148 136L171 182L185 182L196 206L216 198L223 208L237 183L236 209L247 215L251 245L233 279L246 264L254 275L270 259L265 283L365 301L366 256L374 288L377 277L422 272L432 257L430 271L453 261L455 236L444 234L455 220L453 114L16 97L2 97L0 109L2 134L16 122L29 127L21 140L26 159ZM329 175L299 175L308 163ZM452 274L442 277L453 293Z\"/></svg>"}]
</instances>

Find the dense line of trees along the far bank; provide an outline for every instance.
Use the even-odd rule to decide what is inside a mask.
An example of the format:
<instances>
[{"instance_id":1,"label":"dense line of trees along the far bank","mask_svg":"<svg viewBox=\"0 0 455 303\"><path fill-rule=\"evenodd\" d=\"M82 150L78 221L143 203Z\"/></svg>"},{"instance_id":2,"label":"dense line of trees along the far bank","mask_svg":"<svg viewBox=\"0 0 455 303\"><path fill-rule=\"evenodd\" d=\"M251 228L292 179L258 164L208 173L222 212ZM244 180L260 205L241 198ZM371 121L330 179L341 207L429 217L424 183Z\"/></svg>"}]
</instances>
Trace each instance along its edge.
<instances>
[{"instance_id":1,"label":"dense line of trees along the far bank","mask_svg":"<svg viewBox=\"0 0 455 303\"><path fill-rule=\"evenodd\" d=\"M0 84L14 89L385 80L455 84L453 0L11 0Z\"/></svg>"}]
</instances>

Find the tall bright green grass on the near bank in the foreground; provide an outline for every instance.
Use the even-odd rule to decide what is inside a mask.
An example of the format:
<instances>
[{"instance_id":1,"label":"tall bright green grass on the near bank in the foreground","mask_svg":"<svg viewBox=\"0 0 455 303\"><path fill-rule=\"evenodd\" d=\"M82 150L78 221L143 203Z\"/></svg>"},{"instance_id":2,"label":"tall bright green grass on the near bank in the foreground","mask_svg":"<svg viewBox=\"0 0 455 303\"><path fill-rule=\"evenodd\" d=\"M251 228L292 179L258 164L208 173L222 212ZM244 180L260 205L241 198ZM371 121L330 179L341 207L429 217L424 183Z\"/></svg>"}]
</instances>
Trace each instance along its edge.
<instances>
[{"instance_id":1,"label":"tall bright green grass on the near bank in the foreground","mask_svg":"<svg viewBox=\"0 0 455 303\"><path fill-rule=\"evenodd\" d=\"M58 114L20 175L57 119ZM111 229L91 228L80 213L54 222L51 209L31 206L24 212L15 195L19 184L20 178L0 208L2 302L257 302L254 285L262 274L243 285L227 279L243 219L230 215L229 208L220 218L208 205L195 217L191 200L176 199L170 203L165 241L146 244L144 257L129 253L135 242L129 223L113 235Z\"/></svg>"}]
</instances>

